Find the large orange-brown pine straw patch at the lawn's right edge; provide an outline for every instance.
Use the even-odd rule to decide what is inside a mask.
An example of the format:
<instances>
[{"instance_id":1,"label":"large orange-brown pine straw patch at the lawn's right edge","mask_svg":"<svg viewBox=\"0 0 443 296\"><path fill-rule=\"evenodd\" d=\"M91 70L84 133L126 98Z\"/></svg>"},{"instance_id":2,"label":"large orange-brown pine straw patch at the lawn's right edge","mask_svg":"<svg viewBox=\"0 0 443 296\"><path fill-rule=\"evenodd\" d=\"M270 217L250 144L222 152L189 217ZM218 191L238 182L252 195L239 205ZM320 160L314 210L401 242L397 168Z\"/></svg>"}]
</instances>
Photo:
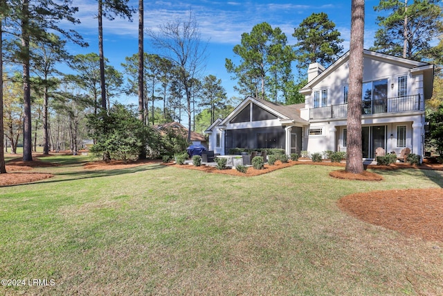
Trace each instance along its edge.
<instances>
[{"instance_id":1,"label":"large orange-brown pine straw patch at the lawn's right edge","mask_svg":"<svg viewBox=\"0 0 443 296\"><path fill-rule=\"evenodd\" d=\"M368 223L443 241L443 189L355 193L338 200L338 207Z\"/></svg>"}]
</instances>

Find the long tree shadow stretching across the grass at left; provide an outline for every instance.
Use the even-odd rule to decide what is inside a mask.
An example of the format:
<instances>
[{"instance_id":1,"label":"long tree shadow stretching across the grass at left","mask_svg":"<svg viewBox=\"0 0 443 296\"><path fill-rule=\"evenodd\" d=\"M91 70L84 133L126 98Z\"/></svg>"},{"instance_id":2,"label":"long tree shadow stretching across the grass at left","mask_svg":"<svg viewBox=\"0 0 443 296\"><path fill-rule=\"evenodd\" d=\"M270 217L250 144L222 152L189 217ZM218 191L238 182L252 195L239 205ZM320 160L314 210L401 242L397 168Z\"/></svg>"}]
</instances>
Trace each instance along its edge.
<instances>
[{"instance_id":1,"label":"long tree shadow stretching across the grass at left","mask_svg":"<svg viewBox=\"0 0 443 296\"><path fill-rule=\"evenodd\" d=\"M167 166L162 166L161 164L151 164L147 166L134 166L131 168L120 168L115 170L82 170L75 172L54 173L53 178L33 182L32 184L60 183L60 182L73 181L73 180L92 179L96 177L112 177L116 175L127 175L132 173L141 173L144 171L154 171L166 167ZM57 177L62 177L62 178L58 179ZM12 186L21 186L21 185L26 185L26 184L12 184L2 187L12 187Z\"/></svg>"}]
</instances>

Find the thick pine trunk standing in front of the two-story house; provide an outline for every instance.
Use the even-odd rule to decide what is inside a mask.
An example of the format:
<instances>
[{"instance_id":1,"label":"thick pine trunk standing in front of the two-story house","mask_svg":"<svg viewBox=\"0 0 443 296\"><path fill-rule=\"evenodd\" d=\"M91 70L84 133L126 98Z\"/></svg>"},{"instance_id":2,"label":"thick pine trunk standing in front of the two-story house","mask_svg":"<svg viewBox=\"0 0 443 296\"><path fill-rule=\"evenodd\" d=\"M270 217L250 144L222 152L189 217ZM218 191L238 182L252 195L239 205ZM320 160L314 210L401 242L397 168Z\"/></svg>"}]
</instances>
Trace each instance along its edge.
<instances>
[{"instance_id":1,"label":"thick pine trunk standing in front of the two-story house","mask_svg":"<svg viewBox=\"0 0 443 296\"><path fill-rule=\"evenodd\" d=\"M363 173L361 149L361 93L363 87L363 38L365 1L352 0L349 58L349 99L347 103L346 168L349 173Z\"/></svg>"}]
</instances>

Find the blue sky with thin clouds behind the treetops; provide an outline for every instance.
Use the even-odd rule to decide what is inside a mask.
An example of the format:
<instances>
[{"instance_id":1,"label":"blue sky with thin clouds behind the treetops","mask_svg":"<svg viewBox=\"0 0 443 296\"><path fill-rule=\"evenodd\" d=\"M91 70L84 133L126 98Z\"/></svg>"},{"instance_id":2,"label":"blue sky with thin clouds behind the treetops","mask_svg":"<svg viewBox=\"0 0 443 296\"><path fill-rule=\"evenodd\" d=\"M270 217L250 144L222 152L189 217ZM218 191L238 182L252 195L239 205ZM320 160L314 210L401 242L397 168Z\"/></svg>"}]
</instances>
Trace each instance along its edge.
<instances>
[{"instance_id":1,"label":"blue sky with thin clouds behind the treetops","mask_svg":"<svg viewBox=\"0 0 443 296\"><path fill-rule=\"evenodd\" d=\"M373 7L379 1L365 1L365 48L372 46L374 33L377 30L376 17ZM84 40L89 43L89 47L82 49L75 44L69 45L69 52L78 53L98 53L98 29L96 11L96 1L74 0L74 6L78 6L77 17L81 24L74 26ZM292 37L294 28L300 22L309 17L313 12L325 12L329 19L334 21L336 28L341 32L344 51L349 49L350 42L350 1L145 1L145 28L157 28L160 24L168 21L186 17L192 10L201 32L201 39L208 42L206 54L206 69L203 76L209 74L221 79L228 97L237 96L233 91L235 80L230 79L224 67L225 59L235 60L233 46L239 44L242 33L250 33L253 26L264 21L273 28L279 27L288 38L288 44L294 44ZM137 0L131 0L129 6L138 7ZM137 52L138 38L138 15L134 15L134 21L116 18L113 21L104 21L104 51L109 62L122 70L121 63L125 62L125 57ZM150 41L145 37L145 51L155 53L150 46ZM136 103L136 98L121 97L121 103Z\"/></svg>"}]
</instances>

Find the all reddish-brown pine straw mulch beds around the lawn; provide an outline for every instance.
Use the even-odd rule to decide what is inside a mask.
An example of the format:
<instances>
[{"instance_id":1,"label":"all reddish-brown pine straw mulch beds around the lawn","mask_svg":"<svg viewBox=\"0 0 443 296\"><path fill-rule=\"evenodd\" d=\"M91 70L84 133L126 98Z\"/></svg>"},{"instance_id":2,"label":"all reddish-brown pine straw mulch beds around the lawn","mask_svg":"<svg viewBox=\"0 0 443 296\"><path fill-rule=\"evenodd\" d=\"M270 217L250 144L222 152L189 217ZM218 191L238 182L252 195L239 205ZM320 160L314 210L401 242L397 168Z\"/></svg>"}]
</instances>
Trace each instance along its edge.
<instances>
[{"instance_id":1,"label":"all reddish-brown pine straw mulch beds around the lawn","mask_svg":"<svg viewBox=\"0 0 443 296\"><path fill-rule=\"evenodd\" d=\"M302 160L302 159L300 159ZM86 169L110 170L129 168L133 166L143 166L146 164L159 163L158 160L143 160L137 162L123 163L120 161L111 162L89 162L84 165ZM235 169L217 170L211 166L192 166L165 164L183 169L192 169L204 171L206 173L221 173L227 175L253 177L270 173L280 168L286 168L293 165L320 165L345 167L344 163L332 162L309 162L298 161L282 164L275 162L275 165L264 165L264 169L255 170L248 168L246 173L239 173ZM42 162L37 157L33 162L23 162L21 159L12 159L6 164L8 172L0 174L0 186L12 184L24 184L35 182L37 180L53 177L51 174L30 173L35 167L56 166L48 162ZM365 168L374 168L380 170L397 170L400 168L432 169L443 171L442 164L424 163L421 166L410 166L409 164L394 164L390 166L365 166ZM379 181L383 178L377 173L364 171L361 175L346 173L344 169L332 171L329 173L332 177L353 180ZM343 211L365 220L368 223L380 225L388 229L394 229L406 235L415 235L431 241L443 241L443 189L408 189L408 190L390 190L390 191L372 191L368 193L355 193L347 195L338 200L338 207Z\"/></svg>"}]
</instances>

